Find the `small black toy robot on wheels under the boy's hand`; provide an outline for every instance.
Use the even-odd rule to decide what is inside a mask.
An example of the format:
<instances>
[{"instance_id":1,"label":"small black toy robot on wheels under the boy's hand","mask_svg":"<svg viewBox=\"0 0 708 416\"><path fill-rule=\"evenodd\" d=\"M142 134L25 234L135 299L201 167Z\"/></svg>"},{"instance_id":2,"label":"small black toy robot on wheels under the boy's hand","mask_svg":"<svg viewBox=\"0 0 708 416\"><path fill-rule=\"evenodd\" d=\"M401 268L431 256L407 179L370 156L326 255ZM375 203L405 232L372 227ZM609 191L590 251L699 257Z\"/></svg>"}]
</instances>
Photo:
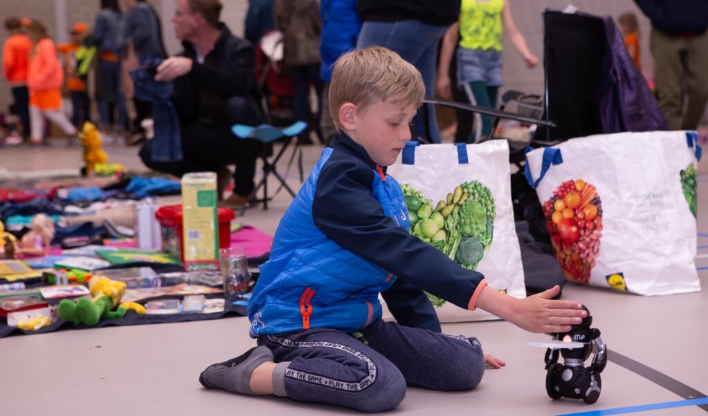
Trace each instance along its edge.
<instances>
[{"instance_id":1,"label":"small black toy robot on wheels under the boy's hand","mask_svg":"<svg viewBox=\"0 0 708 416\"><path fill-rule=\"evenodd\" d=\"M588 311L588 308L583 306ZM585 403L592 404L600 397L602 381L600 373L607 364L607 347L600 339L600 330L590 328L593 317L588 316L578 325L573 325L570 332L555 333L554 340L559 342L581 342L583 347L578 348L548 348L546 350L546 392L549 397L556 400L561 397L582 398ZM585 361L595 347L595 356L590 366L585 366ZM563 364L559 364L558 356L563 356Z\"/></svg>"}]
</instances>

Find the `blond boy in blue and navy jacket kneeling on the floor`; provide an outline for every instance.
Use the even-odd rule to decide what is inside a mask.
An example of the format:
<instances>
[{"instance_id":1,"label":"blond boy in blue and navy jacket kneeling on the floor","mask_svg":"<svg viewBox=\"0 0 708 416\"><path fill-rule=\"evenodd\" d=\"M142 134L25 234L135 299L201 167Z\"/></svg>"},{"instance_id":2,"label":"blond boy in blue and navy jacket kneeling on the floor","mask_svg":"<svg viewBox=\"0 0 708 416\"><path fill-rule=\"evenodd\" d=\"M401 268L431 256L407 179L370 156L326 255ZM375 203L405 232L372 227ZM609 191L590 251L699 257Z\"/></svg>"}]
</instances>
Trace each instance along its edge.
<instances>
[{"instance_id":1,"label":"blond boy in blue and navy jacket kneeling on the floor","mask_svg":"<svg viewBox=\"0 0 708 416\"><path fill-rule=\"evenodd\" d=\"M516 299L409 233L399 183L387 175L411 139L420 72L372 46L344 54L330 84L338 134L275 232L249 303L254 347L200 374L207 388L276 395L363 412L395 408L406 386L469 391L485 364L479 340L382 320L379 293L403 281L539 333L570 330L586 312L554 287Z\"/></svg>"}]
</instances>

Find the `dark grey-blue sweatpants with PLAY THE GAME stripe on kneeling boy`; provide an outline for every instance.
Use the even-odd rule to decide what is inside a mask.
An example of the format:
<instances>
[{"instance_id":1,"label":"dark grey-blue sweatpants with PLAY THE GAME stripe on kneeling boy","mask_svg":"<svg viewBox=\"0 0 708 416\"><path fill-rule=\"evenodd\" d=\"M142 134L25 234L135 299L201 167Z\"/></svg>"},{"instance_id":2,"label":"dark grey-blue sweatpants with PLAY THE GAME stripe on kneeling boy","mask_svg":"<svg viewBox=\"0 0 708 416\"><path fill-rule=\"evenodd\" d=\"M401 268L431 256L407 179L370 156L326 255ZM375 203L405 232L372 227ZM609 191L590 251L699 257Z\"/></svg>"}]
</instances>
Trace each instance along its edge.
<instances>
[{"instance_id":1,"label":"dark grey-blue sweatpants with PLAY THE GAME stripe on kneeling boy","mask_svg":"<svg viewBox=\"0 0 708 416\"><path fill-rule=\"evenodd\" d=\"M377 320L362 338L326 328L261 335L287 397L362 412L395 408L406 385L439 391L472 390L484 374L484 354L474 337L453 337ZM366 343L368 345L366 345ZM282 376L283 381L276 378Z\"/></svg>"}]
</instances>

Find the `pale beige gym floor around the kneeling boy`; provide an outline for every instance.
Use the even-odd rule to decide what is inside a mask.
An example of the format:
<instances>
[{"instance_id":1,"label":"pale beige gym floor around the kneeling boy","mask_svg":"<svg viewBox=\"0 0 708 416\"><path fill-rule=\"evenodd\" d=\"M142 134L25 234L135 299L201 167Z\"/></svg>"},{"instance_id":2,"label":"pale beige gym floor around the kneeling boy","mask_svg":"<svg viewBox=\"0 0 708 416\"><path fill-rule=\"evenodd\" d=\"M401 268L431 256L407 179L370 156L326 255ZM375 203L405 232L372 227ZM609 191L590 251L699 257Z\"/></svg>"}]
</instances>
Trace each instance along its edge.
<instances>
[{"instance_id":1,"label":"pale beige gym floor around the kneeling boy","mask_svg":"<svg viewBox=\"0 0 708 416\"><path fill-rule=\"evenodd\" d=\"M109 161L144 169L135 147L105 147ZM321 146L304 148L305 172ZM51 175L81 166L81 149L53 146L0 148L1 175ZM258 173L260 174L260 173ZM699 166L697 267L708 288L708 173ZM293 169L288 183L297 189ZM275 185L273 183L272 185ZM275 188L273 188L275 189ZM248 209L242 224L272 234L290 203L281 191L269 209ZM489 369L467 393L410 388L392 414L406 415L706 415L708 377L701 322L708 316L707 291L673 296L636 296L566 284L564 299L583 302L608 349L597 403L546 393L545 349L529 340L548 340L508 322L444 324L446 333L474 335L485 352L506 360ZM60 330L0 339L2 415L333 415L358 412L275 397L246 397L202 388L205 367L241 354L255 342L247 318L190 323ZM589 361L586 362L586 365Z\"/></svg>"}]
</instances>

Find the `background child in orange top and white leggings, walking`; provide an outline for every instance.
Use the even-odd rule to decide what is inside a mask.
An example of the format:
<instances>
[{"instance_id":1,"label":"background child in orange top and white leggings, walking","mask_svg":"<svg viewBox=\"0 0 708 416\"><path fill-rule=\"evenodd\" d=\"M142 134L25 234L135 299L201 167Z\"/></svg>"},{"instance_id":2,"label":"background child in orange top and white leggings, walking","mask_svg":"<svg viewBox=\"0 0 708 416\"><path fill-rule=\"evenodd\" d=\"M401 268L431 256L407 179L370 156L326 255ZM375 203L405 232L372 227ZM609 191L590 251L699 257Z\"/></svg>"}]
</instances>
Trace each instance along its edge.
<instances>
[{"instance_id":1,"label":"background child in orange top and white leggings, walking","mask_svg":"<svg viewBox=\"0 0 708 416\"><path fill-rule=\"evenodd\" d=\"M62 111L61 88L64 83L64 69L57 57L55 43L49 38L47 28L40 21L28 23L26 30L33 43L27 73L27 86L30 90L30 140L33 144L42 144L44 141L44 117L73 139L77 134L76 127Z\"/></svg>"}]
</instances>

